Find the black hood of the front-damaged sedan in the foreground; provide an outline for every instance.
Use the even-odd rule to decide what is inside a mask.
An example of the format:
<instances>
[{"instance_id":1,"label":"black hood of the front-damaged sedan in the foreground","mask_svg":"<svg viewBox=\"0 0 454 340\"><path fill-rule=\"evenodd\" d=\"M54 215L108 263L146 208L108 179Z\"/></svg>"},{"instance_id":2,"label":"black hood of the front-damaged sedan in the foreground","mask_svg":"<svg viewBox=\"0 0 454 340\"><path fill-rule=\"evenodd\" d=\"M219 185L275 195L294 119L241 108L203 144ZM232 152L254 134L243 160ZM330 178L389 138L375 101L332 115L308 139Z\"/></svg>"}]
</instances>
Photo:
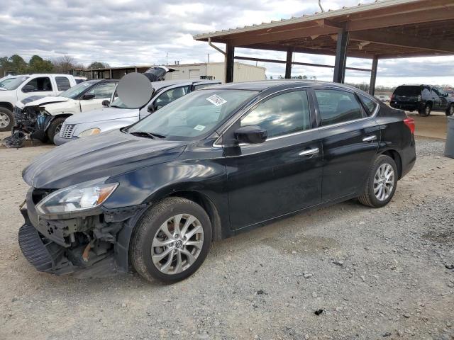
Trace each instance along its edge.
<instances>
[{"instance_id":1,"label":"black hood of the front-damaged sedan in the foreground","mask_svg":"<svg viewBox=\"0 0 454 340\"><path fill-rule=\"evenodd\" d=\"M22 177L35 188L65 188L169 162L186 145L187 141L152 140L115 130L52 149L27 166Z\"/></svg>"}]
</instances>

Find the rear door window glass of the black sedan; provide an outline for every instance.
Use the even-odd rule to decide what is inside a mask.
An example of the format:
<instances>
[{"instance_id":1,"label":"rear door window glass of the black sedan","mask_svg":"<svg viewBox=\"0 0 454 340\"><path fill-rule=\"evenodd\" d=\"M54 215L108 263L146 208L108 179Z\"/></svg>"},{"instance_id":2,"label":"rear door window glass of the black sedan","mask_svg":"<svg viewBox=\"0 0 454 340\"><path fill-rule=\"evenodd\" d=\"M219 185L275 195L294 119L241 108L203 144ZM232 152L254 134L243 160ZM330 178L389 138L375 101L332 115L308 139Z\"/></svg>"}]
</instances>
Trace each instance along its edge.
<instances>
[{"instance_id":1,"label":"rear door window glass of the black sedan","mask_svg":"<svg viewBox=\"0 0 454 340\"><path fill-rule=\"evenodd\" d=\"M321 125L331 125L362 118L360 103L355 94L338 90L316 90Z\"/></svg>"}]
</instances>

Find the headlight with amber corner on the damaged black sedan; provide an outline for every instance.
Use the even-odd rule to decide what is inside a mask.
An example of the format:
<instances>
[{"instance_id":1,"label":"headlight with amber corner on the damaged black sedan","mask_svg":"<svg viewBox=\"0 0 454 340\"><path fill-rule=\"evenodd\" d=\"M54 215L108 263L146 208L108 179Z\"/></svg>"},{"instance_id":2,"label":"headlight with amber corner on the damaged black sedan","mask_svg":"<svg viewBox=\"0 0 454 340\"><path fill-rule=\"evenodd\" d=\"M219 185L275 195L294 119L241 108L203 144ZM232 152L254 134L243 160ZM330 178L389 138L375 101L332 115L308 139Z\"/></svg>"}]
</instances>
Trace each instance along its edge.
<instances>
[{"instance_id":1,"label":"headlight with amber corner on the damaged black sedan","mask_svg":"<svg viewBox=\"0 0 454 340\"><path fill-rule=\"evenodd\" d=\"M118 186L118 183L104 183L96 179L62 188L43 198L36 205L41 214L61 214L96 208L101 205Z\"/></svg>"}]
</instances>

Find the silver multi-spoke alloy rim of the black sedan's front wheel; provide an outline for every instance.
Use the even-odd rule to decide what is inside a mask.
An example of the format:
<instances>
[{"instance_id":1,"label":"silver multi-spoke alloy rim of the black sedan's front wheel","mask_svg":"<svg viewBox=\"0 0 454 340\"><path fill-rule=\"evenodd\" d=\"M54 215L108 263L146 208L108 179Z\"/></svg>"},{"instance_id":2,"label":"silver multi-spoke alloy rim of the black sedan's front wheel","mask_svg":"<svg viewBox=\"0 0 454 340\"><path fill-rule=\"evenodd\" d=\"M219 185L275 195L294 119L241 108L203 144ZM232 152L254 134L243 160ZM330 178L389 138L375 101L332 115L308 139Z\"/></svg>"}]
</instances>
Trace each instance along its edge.
<instances>
[{"instance_id":1,"label":"silver multi-spoke alloy rim of the black sedan's front wheel","mask_svg":"<svg viewBox=\"0 0 454 340\"><path fill-rule=\"evenodd\" d=\"M166 220L153 237L151 259L167 275L191 267L204 246L204 228L196 217L179 214Z\"/></svg>"}]
</instances>

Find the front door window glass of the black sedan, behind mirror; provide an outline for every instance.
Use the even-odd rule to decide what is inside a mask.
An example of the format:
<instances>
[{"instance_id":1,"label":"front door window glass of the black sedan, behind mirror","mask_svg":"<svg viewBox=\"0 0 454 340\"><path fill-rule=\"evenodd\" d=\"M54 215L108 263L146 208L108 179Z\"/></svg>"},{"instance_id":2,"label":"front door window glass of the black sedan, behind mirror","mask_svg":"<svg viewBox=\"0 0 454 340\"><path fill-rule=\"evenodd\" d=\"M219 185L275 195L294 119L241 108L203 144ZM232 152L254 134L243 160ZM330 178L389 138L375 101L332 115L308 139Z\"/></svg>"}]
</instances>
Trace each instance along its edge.
<instances>
[{"instance_id":1,"label":"front door window glass of the black sedan, behind mirror","mask_svg":"<svg viewBox=\"0 0 454 340\"><path fill-rule=\"evenodd\" d=\"M280 94L260 103L241 118L241 126L256 125L267 130L268 138L309 130L311 119L306 91Z\"/></svg>"}]
</instances>

